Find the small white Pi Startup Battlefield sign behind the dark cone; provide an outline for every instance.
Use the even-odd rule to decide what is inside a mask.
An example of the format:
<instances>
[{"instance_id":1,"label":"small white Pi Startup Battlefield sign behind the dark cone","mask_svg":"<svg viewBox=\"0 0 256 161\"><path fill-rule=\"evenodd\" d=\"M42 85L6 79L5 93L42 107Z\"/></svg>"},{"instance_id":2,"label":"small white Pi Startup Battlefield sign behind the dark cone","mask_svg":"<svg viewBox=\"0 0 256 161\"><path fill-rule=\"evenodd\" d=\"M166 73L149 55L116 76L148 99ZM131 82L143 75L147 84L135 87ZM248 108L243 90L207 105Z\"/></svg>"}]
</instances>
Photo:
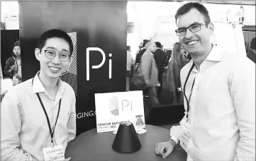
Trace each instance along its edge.
<instances>
[{"instance_id":1,"label":"small white Pi Startup Battlefield sign behind the dark cone","mask_svg":"<svg viewBox=\"0 0 256 161\"><path fill-rule=\"evenodd\" d=\"M116 131L119 124L130 121L145 128L143 91L95 94L97 133Z\"/></svg>"}]
</instances>

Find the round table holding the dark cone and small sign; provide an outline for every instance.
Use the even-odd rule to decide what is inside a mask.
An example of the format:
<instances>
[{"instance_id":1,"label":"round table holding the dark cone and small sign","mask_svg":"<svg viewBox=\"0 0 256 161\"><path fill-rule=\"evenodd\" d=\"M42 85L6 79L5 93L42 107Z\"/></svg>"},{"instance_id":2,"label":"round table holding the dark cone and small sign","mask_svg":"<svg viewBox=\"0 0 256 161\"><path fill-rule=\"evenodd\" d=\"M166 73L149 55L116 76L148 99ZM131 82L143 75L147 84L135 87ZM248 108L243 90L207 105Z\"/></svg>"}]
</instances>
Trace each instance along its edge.
<instances>
[{"instance_id":1,"label":"round table holding the dark cone and small sign","mask_svg":"<svg viewBox=\"0 0 256 161\"><path fill-rule=\"evenodd\" d=\"M96 133L96 129L91 129L80 134L67 145L65 157L71 157L72 161L164 160L162 156L155 155L155 145L168 141L169 130L151 125L146 125L145 129L148 132L138 136L141 148L135 153L117 153L112 149L115 134L112 132ZM187 153L178 145L165 160L185 161L187 160Z\"/></svg>"}]
</instances>

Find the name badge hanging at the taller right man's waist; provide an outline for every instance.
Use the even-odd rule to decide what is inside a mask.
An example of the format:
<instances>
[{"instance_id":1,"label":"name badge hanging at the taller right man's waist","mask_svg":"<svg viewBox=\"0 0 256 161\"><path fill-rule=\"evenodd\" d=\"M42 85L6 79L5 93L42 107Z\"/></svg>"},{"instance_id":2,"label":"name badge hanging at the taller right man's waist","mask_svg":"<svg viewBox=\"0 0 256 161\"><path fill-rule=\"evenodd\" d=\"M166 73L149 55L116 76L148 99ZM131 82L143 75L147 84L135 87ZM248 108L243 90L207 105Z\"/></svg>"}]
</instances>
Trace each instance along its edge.
<instances>
[{"instance_id":1,"label":"name badge hanging at the taller right man's waist","mask_svg":"<svg viewBox=\"0 0 256 161\"><path fill-rule=\"evenodd\" d=\"M180 145L181 147L187 152L187 144L189 143L189 130L190 124L184 123L182 124L182 137L180 138Z\"/></svg>"}]
</instances>

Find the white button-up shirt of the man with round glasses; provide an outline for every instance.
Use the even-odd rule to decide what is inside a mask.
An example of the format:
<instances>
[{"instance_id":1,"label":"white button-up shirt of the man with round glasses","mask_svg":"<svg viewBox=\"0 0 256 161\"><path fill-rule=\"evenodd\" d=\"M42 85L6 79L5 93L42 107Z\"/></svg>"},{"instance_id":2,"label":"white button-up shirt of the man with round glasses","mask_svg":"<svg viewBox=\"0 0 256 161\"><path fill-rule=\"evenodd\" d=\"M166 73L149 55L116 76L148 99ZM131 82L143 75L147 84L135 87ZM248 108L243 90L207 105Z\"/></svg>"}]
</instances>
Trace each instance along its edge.
<instances>
[{"instance_id":1,"label":"white button-up shirt of the man with round glasses","mask_svg":"<svg viewBox=\"0 0 256 161\"><path fill-rule=\"evenodd\" d=\"M55 145L63 145L65 153L67 143L76 135L76 100L70 85L60 79L57 85L57 95L53 99L36 74L34 79L20 83L6 93L1 104L2 161L44 160L43 148L51 145L51 137L43 107L35 93L40 95L52 130L62 99L53 140Z\"/></svg>"}]
</instances>

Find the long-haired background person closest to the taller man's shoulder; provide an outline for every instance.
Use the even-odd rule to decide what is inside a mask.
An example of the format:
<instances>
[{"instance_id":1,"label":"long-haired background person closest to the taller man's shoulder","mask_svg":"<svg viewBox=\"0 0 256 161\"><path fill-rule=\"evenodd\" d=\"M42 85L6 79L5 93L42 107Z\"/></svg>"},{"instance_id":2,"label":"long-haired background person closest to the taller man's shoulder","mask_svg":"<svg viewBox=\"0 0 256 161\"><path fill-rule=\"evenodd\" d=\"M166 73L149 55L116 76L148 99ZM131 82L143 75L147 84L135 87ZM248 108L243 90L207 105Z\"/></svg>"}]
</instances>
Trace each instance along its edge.
<instances>
[{"instance_id":1,"label":"long-haired background person closest to the taller man's shoulder","mask_svg":"<svg viewBox=\"0 0 256 161\"><path fill-rule=\"evenodd\" d=\"M181 98L178 89L182 87L180 82L180 71L187 63L189 63L189 59L186 58L182 45L179 42L176 42L172 50L172 59L167 66L167 87L173 93L173 104L183 103L179 101Z\"/></svg>"}]
</instances>

